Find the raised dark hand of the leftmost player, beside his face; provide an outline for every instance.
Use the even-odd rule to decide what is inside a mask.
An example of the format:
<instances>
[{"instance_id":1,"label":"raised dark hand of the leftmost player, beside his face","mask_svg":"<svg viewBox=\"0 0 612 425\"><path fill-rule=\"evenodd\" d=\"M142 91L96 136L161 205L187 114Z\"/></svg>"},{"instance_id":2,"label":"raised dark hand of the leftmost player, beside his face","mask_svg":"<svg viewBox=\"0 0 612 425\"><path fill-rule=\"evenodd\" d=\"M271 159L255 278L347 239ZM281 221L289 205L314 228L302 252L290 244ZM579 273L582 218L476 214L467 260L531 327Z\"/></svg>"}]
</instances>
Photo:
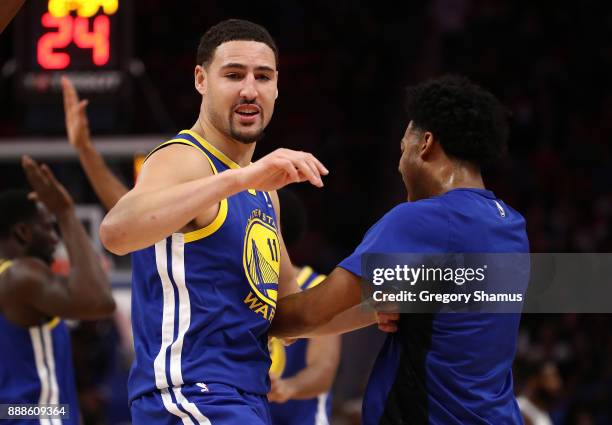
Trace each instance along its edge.
<instances>
[{"instance_id":1,"label":"raised dark hand of the leftmost player, beside his face","mask_svg":"<svg viewBox=\"0 0 612 425\"><path fill-rule=\"evenodd\" d=\"M47 165L38 165L29 156L21 158L21 165L30 186L36 193L36 198L45 205L51 214L58 216L74 208L74 201L66 188L55 179Z\"/></svg>"}]
</instances>

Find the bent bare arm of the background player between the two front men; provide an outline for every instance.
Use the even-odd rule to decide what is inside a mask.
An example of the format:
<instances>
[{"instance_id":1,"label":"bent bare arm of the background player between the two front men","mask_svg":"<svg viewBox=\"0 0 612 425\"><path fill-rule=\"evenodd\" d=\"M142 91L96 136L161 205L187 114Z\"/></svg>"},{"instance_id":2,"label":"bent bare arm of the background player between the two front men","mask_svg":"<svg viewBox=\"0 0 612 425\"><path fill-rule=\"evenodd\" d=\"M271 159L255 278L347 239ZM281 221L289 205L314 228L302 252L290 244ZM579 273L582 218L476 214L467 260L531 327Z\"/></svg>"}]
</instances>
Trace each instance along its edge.
<instances>
[{"instance_id":1,"label":"bent bare arm of the background player between the two front men","mask_svg":"<svg viewBox=\"0 0 612 425\"><path fill-rule=\"evenodd\" d=\"M272 380L270 401L305 400L330 390L340 361L340 337L324 336L308 341L306 367L292 377Z\"/></svg>"}]
</instances>

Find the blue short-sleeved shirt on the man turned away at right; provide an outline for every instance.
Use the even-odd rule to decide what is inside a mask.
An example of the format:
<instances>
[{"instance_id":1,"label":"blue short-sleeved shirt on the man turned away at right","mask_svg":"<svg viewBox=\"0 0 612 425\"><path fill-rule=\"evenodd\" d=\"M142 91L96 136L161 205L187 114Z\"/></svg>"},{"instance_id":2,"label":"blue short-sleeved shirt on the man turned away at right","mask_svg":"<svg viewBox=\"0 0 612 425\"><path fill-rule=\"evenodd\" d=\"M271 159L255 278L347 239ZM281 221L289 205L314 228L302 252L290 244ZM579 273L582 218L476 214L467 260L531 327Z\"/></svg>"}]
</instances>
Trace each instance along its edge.
<instances>
[{"instance_id":1,"label":"blue short-sleeved shirt on the man turned away at right","mask_svg":"<svg viewBox=\"0 0 612 425\"><path fill-rule=\"evenodd\" d=\"M528 253L529 243L523 217L492 192L455 189L393 208L339 266L361 276L368 252ZM370 376L363 423L521 424L512 388L519 321L519 314L402 314Z\"/></svg>"}]
</instances>

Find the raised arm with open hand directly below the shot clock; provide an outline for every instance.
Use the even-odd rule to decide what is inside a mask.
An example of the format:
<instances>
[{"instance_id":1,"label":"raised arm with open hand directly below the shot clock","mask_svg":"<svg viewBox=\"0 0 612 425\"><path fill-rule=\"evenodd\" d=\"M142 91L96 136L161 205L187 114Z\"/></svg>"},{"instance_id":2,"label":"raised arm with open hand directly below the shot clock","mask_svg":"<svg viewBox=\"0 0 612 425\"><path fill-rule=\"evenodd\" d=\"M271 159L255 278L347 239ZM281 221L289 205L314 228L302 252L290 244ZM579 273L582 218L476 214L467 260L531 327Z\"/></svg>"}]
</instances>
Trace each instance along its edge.
<instances>
[{"instance_id":1,"label":"raised arm with open hand directly below the shot clock","mask_svg":"<svg viewBox=\"0 0 612 425\"><path fill-rule=\"evenodd\" d=\"M88 101L79 100L68 77L62 77L62 94L68 141L79 155L81 166L98 199L104 208L110 210L128 192L128 188L111 172L91 142L86 111Z\"/></svg>"}]
</instances>

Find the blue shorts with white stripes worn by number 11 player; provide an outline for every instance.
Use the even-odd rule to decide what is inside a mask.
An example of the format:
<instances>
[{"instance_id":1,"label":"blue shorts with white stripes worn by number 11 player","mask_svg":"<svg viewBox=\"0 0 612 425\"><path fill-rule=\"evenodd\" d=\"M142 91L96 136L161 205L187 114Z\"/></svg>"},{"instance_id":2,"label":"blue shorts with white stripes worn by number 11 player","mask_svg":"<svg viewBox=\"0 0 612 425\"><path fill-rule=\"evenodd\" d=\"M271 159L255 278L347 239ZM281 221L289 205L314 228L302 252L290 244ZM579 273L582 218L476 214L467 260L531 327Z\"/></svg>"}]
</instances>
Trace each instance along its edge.
<instances>
[{"instance_id":1,"label":"blue shorts with white stripes worn by number 11 player","mask_svg":"<svg viewBox=\"0 0 612 425\"><path fill-rule=\"evenodd\" d=\"M134 425L270 425L265 395L225 384L184 385L132 401Z\"/></svg>"}]
</instances>

